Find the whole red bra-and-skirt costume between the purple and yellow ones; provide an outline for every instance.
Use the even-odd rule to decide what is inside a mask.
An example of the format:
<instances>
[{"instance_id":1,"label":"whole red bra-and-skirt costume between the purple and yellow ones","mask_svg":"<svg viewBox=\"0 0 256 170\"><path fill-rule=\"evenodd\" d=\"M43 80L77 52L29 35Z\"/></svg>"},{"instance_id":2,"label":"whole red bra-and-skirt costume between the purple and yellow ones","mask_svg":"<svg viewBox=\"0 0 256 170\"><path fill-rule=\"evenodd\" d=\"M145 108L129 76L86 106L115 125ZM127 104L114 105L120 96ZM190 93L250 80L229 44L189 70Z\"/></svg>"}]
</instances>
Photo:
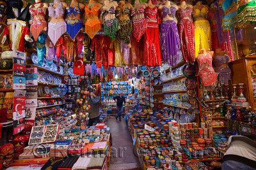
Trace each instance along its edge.
<instances>
[{"instance_id":1,"label":"whole red bra-and-skirt costume between the purple and yellow ones","mask_svg":"<svg viewBox=\"0 0 256 170\"><path fill-rule=\"evenodd\" d=\"M186 62L195 62L195 29L191 20L193 9L189 6L179 8L177 15L179 17L178 30L180 34L180 46L182 50L183 59ZM189 19L186 19L189 17Z\"/></svg>"}]
</instances>

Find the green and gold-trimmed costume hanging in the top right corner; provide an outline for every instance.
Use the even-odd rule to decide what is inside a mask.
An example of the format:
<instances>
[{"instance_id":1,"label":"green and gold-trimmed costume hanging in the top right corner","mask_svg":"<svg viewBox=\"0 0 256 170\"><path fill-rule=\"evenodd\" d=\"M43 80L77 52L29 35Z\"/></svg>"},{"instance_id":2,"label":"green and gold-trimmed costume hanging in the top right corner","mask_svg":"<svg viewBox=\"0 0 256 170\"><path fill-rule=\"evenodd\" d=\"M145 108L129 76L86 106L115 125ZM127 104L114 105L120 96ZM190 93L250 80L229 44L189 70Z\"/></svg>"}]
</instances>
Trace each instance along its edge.
<instances>
[{"instance_id":1,"label":"green and gold-trimmed costume hanging in the top right corner","mask_svg":"<svg viewBox=\"0 0 256 170\"><path fill-rule=\"evenodd\" d=\"M241 1L240 1L241 3ZM237 9L237 27L246 26L247 22L253 24L256 21L256 1L252 0L249 3L239 6Z\"/></svg>"}]
</instances>

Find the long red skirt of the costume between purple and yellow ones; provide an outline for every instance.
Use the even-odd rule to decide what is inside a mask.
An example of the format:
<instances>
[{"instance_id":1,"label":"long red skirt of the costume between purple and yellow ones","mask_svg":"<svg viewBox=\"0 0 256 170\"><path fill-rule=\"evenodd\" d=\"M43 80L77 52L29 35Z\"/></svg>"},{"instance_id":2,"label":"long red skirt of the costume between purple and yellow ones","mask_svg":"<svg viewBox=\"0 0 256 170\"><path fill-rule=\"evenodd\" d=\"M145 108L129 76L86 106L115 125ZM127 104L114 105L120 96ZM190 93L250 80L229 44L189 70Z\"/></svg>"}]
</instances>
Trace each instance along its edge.
<instances>
[{"instance_id":1,"label":"long red skirt of the costume between purple and yellow ones","mask_svg":"<svg viewBox=\"0 0 256 170\"><path fill-rule=\"evenodd\" d=\"M192 20L183 19L178 24L183 59L195 62L195 28Z\"/></svg>"}]
</instances>

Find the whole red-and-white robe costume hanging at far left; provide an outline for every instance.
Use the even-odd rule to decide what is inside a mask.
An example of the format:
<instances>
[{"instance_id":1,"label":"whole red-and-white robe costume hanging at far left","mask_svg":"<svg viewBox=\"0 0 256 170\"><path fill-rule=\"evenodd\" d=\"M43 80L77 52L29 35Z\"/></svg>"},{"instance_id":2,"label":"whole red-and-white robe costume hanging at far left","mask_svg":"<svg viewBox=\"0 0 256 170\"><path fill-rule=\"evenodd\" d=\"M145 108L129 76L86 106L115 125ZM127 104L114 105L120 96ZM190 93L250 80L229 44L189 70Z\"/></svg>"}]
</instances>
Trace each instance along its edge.
<instances>
[{"instance_id":1,"label":"whole red-and-white robe costume hanging at far left","mask_svg":"<svg viewBox=\"0 0 256 170\"><path fill-rule=\"evenodd\" d=\"M8 19L7 26L4 27L3 36L8 36L10 39L10 48L24 52L24 41L29 38L29 30L26 27L26 22L16 19Z\"/></svg>"}]
</instances>

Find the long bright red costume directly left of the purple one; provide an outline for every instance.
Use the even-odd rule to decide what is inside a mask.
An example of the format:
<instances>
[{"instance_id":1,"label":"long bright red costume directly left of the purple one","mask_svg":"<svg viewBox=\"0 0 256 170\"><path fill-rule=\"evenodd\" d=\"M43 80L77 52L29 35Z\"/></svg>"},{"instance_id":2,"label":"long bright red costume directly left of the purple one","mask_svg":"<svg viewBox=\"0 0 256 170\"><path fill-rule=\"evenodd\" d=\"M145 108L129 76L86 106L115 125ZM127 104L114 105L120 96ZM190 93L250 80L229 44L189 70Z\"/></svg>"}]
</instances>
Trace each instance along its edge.
<instances>
[{"instance_id":1,"label":"long bright red costume directly left of the purple one","mask_svg":"<svg viewBox=\"0 0 256 170\"><path fill-rule=\"evenodd\" d=\"M160 66L161 51L159 45L159 27L161 21L159 18L158 7L151 9L145 8L145 18L148 21L148 27L144 34L144 62L146 66Z\"/></svg>"}]
</instances>

